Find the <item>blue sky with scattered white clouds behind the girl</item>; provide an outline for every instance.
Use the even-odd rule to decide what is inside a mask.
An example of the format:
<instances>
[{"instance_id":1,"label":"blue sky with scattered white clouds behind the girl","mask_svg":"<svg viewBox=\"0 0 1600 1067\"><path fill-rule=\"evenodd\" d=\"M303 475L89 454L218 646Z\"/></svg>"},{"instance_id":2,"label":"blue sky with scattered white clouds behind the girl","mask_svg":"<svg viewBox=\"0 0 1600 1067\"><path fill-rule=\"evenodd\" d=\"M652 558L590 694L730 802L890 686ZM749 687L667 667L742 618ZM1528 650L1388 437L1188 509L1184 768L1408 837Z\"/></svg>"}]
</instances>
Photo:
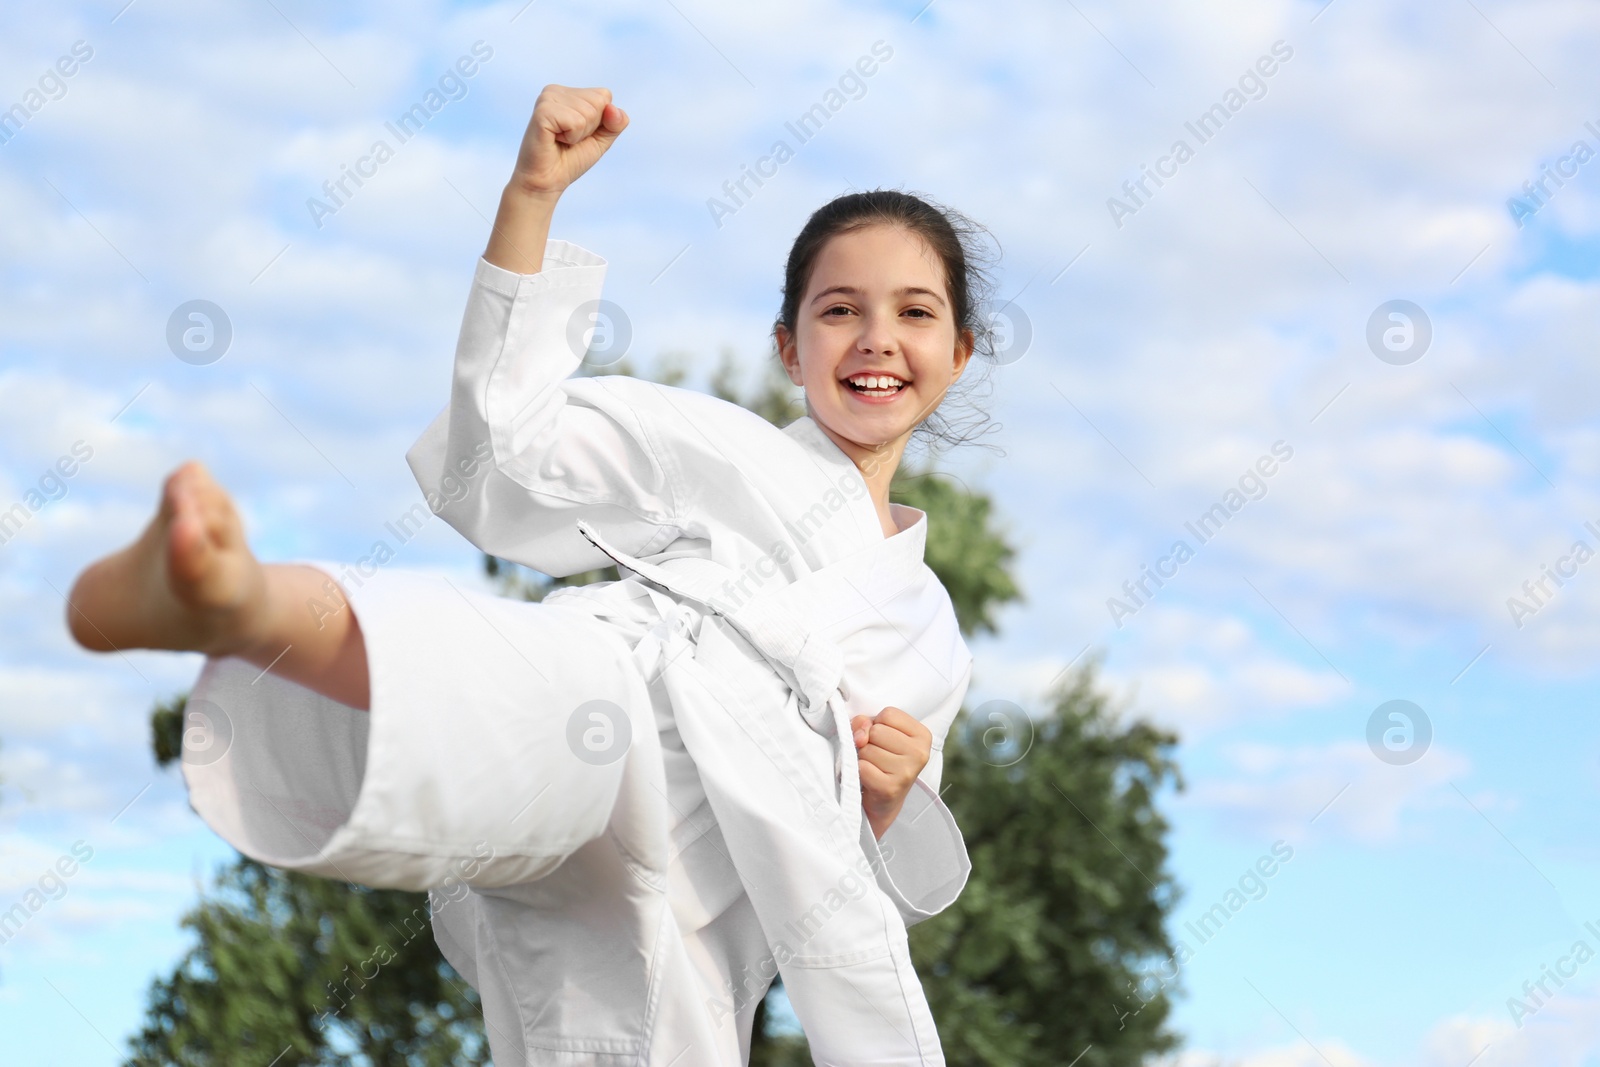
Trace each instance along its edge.
<instances>
[{"instance_id":1,"label":"blue sky with scattered white clouds behind the girl","mask_svg":"<svg viewBox=\"0 0 1600 1067\"><path fill-rule=\"evenodd\" d=\"M971 702L1038 707L1088 646L1126 713L1182 736L1174 931L1294 849L1186 965L1186 1067L1600 1064L1600 963L1507 1009L1576 939L1600 949L1600 561L1520 627L1506 605L1600 547L1600 162L1523 227L1507 210L1574 141L1600 150L1590 6L114 0L5 24L0 107L93 50L0 144L0 507L93 451L0 545L0 905L93 849L0 947L27 1062L117 1062L229 854L149 757L150 704L198 661L77 651L59 592L187 458L264 558L354 560L419 499L403 454L557 82L632 117L554 235L610 261L646 366L683 354L704 382L731 349L754 381L789 242L851 187L994 234L1032 342L986 400L1005 454L944 466L994 494L1027 601L974 641ZM475 42L459 99L317 226L307 200ZM707 200L875 42L861 98L718 226ZM1278 42L1198 144L1184 123ZM1160 163L1179 138L1192 158ZM1118 226L1144 166L1174 170ZM210 365L166 346L192 299L234 328ZM1395 299L1432 326L1398 365L1366 339ZM1115 625L1107 598L1280 440L1266 494ZM397 561L477 581L442 523ZM1413 763L1366 742L1392 699L1432 725Z\"/></svg>"}]
</instances>

